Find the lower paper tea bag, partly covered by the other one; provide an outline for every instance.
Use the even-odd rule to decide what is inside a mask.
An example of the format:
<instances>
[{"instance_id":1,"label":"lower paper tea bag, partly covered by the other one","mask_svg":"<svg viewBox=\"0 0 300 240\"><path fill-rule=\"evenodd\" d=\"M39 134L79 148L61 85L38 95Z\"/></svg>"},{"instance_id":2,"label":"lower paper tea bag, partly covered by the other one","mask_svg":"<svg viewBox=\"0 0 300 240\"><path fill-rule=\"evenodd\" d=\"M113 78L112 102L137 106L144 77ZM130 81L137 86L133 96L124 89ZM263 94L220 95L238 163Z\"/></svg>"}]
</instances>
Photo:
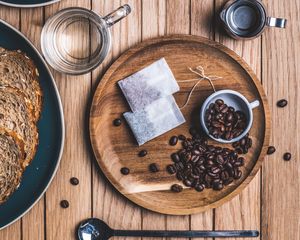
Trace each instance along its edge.
<instances>
[{"instance_id":1,"label":"lower paper tea bag, partly covered by the other one","mask_svg":"<svg viewBox=\"0 0 300 240\"><path fill-rule=\"evenodd\" d=\"M172 95L152 102L141 111L126 112L124 117L139 146L185 122Z\"/></svg>"}]
</instances>

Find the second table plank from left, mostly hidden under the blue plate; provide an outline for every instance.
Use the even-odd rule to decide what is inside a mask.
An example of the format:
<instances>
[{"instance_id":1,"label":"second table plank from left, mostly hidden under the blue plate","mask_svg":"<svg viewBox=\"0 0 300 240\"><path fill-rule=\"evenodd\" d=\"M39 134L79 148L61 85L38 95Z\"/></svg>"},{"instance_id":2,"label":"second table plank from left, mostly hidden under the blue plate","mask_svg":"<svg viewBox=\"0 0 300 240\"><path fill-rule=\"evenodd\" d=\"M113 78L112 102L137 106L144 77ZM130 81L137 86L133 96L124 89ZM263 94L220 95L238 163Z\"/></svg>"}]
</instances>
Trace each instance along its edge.
<instances>
[{"instance_id":1,"label":"second table plank from left, mostly hidden under the blue plate","mask_svg":"<svg viewBox=\"0 0 300 240\"><path fill-rule=\"evenodd\" d=\"M44 22L43 8L22 9L20 30L40 51L40 34ZM31 24L28 24L30 22ZM34 26L34 27L32 27ZM22 240L43 239L45 236L45 196L22 218ZM36 222L35 228L32 223Z\"/></svg>"}]
</instances>

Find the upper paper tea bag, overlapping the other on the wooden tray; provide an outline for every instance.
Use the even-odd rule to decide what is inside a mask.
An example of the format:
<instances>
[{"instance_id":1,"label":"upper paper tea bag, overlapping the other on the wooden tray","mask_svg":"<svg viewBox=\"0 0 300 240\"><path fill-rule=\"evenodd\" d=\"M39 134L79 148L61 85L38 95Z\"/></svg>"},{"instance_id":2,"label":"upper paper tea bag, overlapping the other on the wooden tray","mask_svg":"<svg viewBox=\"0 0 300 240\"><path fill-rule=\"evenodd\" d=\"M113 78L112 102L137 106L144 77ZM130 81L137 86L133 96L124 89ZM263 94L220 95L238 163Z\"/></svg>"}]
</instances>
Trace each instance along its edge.
<instances>
[{"instance_id":1,"label":"upper paper tea bag, overlapping the other on the wooden tray","mask_svg":"<svg viewBox=\"0 0 300 240\"><path fill-rule=\"evenodd\" d=\"M155 100L179 91L174 75L164 58L118 82L132 112L144 109Z\"/></svg>"}]
</instances>

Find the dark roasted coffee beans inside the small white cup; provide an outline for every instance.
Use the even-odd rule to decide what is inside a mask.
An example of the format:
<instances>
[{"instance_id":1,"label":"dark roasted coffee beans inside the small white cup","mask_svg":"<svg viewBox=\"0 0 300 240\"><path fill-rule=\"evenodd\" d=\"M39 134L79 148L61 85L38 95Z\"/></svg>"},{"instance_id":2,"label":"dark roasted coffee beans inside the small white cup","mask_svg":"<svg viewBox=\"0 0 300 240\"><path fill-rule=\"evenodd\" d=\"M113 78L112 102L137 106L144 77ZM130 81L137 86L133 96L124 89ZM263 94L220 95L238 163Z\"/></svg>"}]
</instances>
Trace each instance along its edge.
<instances>
[{"instance_id":1,"label":"dark roasted coffee beans inside the small white cup","mask_svg":"<svg viewBox=\"0 0 300 240\"><path fill-rule=\"evenodd\" d=\"M205 112L205 124L214 138L231 140L244 132L247 118L243 112L235 111L222 99L217 99Z\"/></svg>"}]
</instances>

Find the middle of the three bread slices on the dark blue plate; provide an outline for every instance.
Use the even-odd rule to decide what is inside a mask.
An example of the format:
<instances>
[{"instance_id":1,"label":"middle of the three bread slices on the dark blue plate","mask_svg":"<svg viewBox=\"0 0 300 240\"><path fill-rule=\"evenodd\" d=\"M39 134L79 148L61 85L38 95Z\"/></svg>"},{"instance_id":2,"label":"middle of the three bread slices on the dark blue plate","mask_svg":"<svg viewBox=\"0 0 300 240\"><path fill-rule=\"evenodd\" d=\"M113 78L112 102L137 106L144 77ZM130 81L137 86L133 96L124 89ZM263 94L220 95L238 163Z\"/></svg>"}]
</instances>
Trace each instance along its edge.
<instances>
[{"instance_id":1,"label":"middle of the three bread slices on the dark blue plate","mask_svg":"<svg viewBox=\"0 0 300 240\"><path fill-rule=\"evenodd\" d=\"M17 89L0 87L0 127L14 131L24 141L25 168L33 159L38 132L32 114L30 101Z\"/></svg>"}]
</instances>

